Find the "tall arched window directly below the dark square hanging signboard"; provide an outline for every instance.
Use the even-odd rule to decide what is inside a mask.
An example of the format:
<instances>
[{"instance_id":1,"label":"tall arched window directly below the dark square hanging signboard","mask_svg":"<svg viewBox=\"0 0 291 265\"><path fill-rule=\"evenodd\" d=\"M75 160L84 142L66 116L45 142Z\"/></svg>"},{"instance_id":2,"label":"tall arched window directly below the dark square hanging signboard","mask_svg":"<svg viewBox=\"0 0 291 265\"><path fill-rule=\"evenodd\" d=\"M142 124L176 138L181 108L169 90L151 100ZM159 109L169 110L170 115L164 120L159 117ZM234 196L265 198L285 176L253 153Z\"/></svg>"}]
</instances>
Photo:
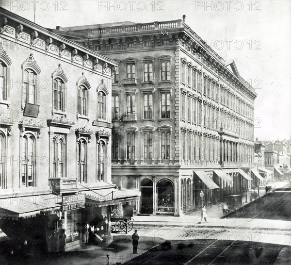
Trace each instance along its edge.
<instances>
[{"instance_id":1,"label":"tall arched window directly below the dark square hanging signboard","mask_svg":"<svg viewBox=\"0 0 291 265\"><path fill-rule=\"evenodd\" d=\"M21 185L35 186L35 138L27 133L21 139Z\"/></svg>"}]
</instances>

